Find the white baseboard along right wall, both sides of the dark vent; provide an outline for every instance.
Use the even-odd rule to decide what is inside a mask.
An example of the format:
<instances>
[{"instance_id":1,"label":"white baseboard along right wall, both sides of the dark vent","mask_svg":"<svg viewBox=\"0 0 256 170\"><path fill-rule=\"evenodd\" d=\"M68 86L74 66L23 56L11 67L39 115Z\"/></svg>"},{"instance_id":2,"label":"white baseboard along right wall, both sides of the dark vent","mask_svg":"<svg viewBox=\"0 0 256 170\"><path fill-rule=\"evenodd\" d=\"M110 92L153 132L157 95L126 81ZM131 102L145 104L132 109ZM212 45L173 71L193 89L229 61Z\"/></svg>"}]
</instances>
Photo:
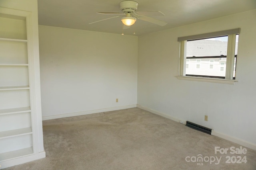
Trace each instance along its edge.
<instances>
[{"instance_id":1,"label":"white baseboard along right wall, both sides of the dark vent","mask_svg":"<svg viewBox=\"0 0 256 170\"><path fill-rule=\"evenodd\" d=\"M173 121L177 121L177 122L180 122L180 121L183 121L183 124L186 125L186 120L182 120L182 119L178 119L176 117L172 117L170 115L167 115L166 113L160 113L156 110L153 110L153 109L150 109L148 107L144 107L144 106L141 106L139 104L137 104L137 107L140 108L140 109L143 109L143 110L146 110L146 111L149 111L151 113L154 113L154 114L157 114L157 115L160 115L162 117L166 117L168 119L171 119ZM229 136L229 135L226 135L226 134L223 134L223 133L220 133L220 132L216 132L214 130L212 130L212 135L214 136L217 136L217 137L220 137L222 139L226 139L228 141L231 141L231 142L234 142L234 143L237 143L239 145L242 145L244 147L248 147L250 149L254 149L256 150L256 144L254 143L251 143L251 142L248 142L248 141L244 141L242 139L239 139L239 138L236 138L236 137L232 137L232 136Z\"/></svg>"}]
</instances>

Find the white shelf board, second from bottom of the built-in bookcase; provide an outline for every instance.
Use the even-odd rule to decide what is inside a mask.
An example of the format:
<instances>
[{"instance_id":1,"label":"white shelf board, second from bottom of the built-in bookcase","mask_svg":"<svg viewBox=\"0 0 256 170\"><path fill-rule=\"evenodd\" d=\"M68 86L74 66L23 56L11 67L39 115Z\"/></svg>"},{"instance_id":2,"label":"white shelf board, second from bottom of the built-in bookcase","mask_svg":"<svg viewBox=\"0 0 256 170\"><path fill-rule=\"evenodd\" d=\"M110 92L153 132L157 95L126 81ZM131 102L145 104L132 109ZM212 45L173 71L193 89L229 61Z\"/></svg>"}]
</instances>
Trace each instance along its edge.
<instances>
[{"instance_id":1,"label":"white shelf board, second from bottom of the built-in bookcase","mask_svg":"<svg viewBox=\"0 0 256 170\"><path fill-rule=\"evenodd\" d=\"M21 135L29 135L29 134L32 134L31 127L15 129L15 130L10 130L10 131L2 131L2 132L0 132L0 139L16 137L16 136L21 136Z\"/></svg>"}]
</instances>

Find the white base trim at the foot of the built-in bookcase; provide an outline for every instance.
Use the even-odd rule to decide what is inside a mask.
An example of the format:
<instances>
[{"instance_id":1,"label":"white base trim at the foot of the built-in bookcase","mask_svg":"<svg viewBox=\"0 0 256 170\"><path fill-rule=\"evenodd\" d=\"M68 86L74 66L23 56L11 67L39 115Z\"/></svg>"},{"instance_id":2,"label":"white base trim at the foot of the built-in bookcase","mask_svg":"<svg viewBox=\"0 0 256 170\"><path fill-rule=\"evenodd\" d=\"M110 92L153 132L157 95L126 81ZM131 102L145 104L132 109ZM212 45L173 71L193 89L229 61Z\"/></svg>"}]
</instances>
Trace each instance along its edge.
<instances>
[{"instance_id":1,"label":"white base trim at the foot of the built-in bookcase","mask_svg":"<svg viewBox=\"0 0 256 170\"><path fill-rule=\"evenodd\" d=\"M20 158L5 160L3 162L0 162L0 165L1 165L0 169L8 168L8 167L19 165L19 164L24 164L26 162L30 162L30 161L41 159L41 158L45 158L45 156L46 154L44 151L44 152L39 152L38 154L31 154L28 156L22 156Z\"/></svg>"}]
</instances>

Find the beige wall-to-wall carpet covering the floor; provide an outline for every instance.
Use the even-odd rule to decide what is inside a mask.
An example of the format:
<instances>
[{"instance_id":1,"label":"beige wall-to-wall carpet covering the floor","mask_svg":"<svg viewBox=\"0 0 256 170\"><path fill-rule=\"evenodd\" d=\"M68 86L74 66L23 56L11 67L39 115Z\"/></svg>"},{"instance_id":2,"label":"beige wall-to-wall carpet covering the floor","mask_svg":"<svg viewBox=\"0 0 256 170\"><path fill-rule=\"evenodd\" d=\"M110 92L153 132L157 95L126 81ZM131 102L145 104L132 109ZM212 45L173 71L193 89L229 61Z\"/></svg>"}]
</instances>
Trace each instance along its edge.
<instances>
[{"instance_id":1,"label":"beige wall-to-wall carpet covering the floor","mask_svg":"<svg viewBox=\"0 0 256 170\"><path fill-rule=\"evenodd\" d=\"M46 158L7 170L256 170L256 150L215 154L240 145L139 108L43 121L43 130ZM205 161L191 162L198 154ZM210 164L216 156L220 163ZM228 164L226 156L247 163Z\"/></svg>"}]
</instances>

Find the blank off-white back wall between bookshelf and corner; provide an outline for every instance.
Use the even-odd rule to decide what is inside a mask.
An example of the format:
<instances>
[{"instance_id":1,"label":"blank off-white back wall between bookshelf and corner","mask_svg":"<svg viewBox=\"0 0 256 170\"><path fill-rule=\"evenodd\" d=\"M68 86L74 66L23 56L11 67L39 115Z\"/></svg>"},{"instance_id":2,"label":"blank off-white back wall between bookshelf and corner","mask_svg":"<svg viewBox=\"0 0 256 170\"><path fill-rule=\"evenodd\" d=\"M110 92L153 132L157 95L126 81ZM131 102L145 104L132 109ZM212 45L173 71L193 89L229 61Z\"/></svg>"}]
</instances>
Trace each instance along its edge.
<instances>
[{"instance_id":1,"label":"blank off-white back wall between bookshelf and corner","mask_svg":"<svg viewBox=\"0 0 256 170\"><path fill-rule=\"evenodd\" d=\"M39 44L43 117L136 105L136 36L39 25Z\"/></svg>"}]
</instances>

